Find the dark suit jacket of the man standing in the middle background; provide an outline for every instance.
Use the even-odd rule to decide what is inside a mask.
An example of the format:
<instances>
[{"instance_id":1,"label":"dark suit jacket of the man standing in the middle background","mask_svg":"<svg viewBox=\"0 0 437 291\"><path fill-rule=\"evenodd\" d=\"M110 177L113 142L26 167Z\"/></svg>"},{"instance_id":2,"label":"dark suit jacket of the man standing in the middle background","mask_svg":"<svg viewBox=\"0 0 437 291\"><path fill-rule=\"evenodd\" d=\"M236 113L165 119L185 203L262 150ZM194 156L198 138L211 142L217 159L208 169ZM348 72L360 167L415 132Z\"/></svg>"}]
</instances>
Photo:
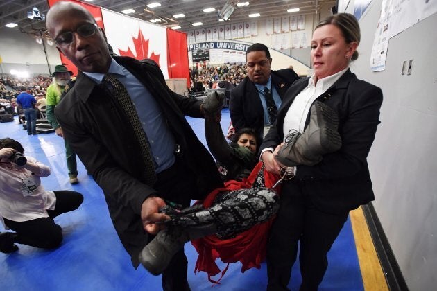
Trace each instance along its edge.
<instances>
[{"instance_id":1,"label":"dark suit jacket of the man standing in the middle background","mask_svg":"<svg viewBox=\"0 0 437 291\"><path fill-rule=\"evenodd\" d=\"M292 69L271 71L272 85L275 86L281 100L287 89L295 80L299 79L298 74ZM229 100L229 112L232 125L235 130L243 127L251 127L259 134L264 132L264 111L255 84L244 78L237 87L232 89Z\"/></svg>"}]
</instances>

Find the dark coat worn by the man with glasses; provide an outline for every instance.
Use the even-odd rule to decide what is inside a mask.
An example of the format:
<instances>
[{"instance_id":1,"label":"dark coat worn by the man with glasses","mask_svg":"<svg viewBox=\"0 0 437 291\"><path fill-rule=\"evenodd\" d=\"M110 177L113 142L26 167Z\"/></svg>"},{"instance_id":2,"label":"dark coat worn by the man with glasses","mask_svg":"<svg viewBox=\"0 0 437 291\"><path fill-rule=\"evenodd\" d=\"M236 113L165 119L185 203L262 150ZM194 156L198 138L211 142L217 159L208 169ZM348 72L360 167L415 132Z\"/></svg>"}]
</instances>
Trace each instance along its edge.
<instances>
[{"instance_id":1,"label":"dark coat worn by the man with glasses","mask_svg":"<svg viewBox=\"0 0 437 291\"><path fill-rule=\"evenodd\" d=\"M197 178L197 188L194 186L187 195L203 199L214 188L223 186L214 159L184 116L203 117L200 101L171 91L155 63L123 57L114 60L135 75L159 103L180 145L182 161ZM160 193L144 181L139 142L128 117L115 102L103 85L79 73L74 87L55 107L55 115L71 148L103 189L114 227L137 267L137 255L148 240L142 227L141 206L148 195Z\"/></svg>"}]
</instances>

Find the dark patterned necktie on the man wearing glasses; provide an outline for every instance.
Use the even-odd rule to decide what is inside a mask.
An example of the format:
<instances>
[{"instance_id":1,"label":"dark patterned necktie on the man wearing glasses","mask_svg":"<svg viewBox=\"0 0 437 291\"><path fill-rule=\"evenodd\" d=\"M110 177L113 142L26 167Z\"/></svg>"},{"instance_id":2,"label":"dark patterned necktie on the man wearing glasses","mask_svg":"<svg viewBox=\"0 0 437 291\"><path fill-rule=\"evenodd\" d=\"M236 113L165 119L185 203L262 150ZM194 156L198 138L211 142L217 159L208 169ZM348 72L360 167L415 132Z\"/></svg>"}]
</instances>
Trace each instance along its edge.
<instances>
[{"instance_id":1,"label":"dark patterned necktie on the man wearing glasses","mask_svg":"<svg viewBox=\"0 0 437 291\"><path fill-rule=\"evenodd\" d=\"M141 148L144 164L146 164L146 169L144 171L146 184L148 184L148 186L153 186L157 181L155 160L152 157L146 133L143 130L141 121L139 121L137 111L135 110L132 100L129 97L128 91L123 84L117 80L117 78L114 78L114 76L111 76L110 74L106 74L105 78L103 78L103 83L105 82L110 85L108 86L110 91L114 95L115 99L117 99L117 102L123 111L126 113L126 116L129 118L130 124L135 132L135 136L137 136L139 147Z\"/></svg>"}]
</instances>

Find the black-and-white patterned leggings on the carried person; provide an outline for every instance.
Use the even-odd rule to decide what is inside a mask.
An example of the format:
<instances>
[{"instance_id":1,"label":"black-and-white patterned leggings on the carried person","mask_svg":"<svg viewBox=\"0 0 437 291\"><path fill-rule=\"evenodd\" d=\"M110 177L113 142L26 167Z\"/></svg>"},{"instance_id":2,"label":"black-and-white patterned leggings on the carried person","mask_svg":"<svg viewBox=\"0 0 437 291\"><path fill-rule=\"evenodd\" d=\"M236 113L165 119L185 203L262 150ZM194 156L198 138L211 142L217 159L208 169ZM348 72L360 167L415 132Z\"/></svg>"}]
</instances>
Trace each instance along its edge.
<instances>
[{"instance_id":1,"label":"black-and-white patterned leggings on the carried person","mask_svg":"<svg viewBox=\"0 0 437 291\"><path fill-rule=\"evenodd\" d=\"M166 224L198 227L214 223L219 238L233 236L266 222L279 209L279 196L268 188L250 188L219 193L211 207L196 204L181 211L170 206L161 209L171 220Z\"/></svg>"}]
</instances>

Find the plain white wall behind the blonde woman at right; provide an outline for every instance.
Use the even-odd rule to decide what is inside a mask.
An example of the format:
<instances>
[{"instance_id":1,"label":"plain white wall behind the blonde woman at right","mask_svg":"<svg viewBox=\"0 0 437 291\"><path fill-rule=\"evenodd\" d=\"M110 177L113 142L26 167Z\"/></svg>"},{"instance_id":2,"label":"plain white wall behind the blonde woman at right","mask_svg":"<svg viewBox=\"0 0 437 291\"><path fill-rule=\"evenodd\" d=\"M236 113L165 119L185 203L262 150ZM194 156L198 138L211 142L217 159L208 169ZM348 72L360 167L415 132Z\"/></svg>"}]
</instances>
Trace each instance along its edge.
<instances>
[{"instance_id":1,"label":"plain white wall behind the blonde woman at right","mask_svg":"<svg viewBox=\"0 0 437 291\"><path fill-rule=\"evenodd\" d=\"M368 158L373 205L410 290L436 290L437 15L391 38L386 69L375 73L370 53L381 3L373 0L360 19L360 56L352 66L384 93ZM410 76L401 75L404 60L413 60Z\"/></svg>"}]
</instances>

